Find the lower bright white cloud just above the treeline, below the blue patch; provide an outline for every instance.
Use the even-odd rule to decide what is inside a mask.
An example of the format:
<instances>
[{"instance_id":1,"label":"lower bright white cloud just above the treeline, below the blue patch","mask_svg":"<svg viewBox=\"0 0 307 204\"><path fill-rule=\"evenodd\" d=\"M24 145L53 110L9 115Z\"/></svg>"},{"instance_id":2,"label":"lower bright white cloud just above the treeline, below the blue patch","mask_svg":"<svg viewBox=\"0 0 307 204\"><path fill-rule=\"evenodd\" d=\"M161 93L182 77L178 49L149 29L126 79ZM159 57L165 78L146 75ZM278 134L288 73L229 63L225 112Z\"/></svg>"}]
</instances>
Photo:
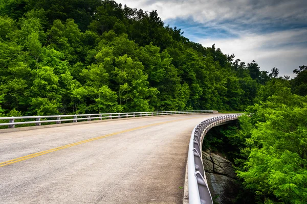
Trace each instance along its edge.
<instances>
[{"instance_id":1,"label":"lower bright white cloud just above the treeline, below the blue patch","mask_svg":"<svg viewBox=\"0 0 307 204\"><path fill-rule=\"evenodd\" d=\"M261 70L270 71L274 66L280 75L294 77L293 69L307 64L307 29L274 32L270 34L247 34L236 39L198 39L203 46L215 44L223 53L236 55L246 63L255 60Z\"/></svg>"}]
</instances>

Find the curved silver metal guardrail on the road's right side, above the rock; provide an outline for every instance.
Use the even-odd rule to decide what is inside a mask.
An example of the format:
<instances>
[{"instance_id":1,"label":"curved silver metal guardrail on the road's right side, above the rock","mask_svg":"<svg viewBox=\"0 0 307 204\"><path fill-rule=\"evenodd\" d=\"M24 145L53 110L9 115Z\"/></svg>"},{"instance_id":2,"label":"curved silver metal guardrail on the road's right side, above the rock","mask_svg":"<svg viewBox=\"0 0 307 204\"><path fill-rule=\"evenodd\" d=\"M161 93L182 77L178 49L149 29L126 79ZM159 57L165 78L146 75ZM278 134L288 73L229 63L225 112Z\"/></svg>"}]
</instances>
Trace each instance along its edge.
<instances>
[{"instance_id":1,"label":"curved silver metal guardrail on the road's right side, above the rock","mask_svg":"<svg viewBox=\"0 0 307 204\"><path fill-rule=\"evenodd\" d=\"M236 120L240 115L243 114L208 118L194 127L191 134L188 153L188 191L190 204L213 204L202 158L204 136L211 127L230 120Z\"/></svg>"}]
</instances>

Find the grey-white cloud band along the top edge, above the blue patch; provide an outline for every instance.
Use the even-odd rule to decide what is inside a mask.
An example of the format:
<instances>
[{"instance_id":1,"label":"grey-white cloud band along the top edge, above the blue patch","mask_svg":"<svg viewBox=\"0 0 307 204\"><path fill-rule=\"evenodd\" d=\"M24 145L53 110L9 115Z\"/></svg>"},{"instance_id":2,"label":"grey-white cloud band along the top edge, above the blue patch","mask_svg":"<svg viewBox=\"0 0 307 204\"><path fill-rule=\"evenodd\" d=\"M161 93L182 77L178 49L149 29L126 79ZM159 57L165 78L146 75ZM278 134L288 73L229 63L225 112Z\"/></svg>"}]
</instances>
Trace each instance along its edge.
<instances>
[{"instance_id":1,"label":"grey-white cloud band along the top edge, above the blue patch","mask_svg":"<svg viewBox=\"0 0 307 204\"><path fill-rule=\"evenodd\" d=\"M305 21L304 0L118 0L131 8L157 10L163 20L192 17L201 23L236 20L240 23Z\"/></svg>"}]
</instances>

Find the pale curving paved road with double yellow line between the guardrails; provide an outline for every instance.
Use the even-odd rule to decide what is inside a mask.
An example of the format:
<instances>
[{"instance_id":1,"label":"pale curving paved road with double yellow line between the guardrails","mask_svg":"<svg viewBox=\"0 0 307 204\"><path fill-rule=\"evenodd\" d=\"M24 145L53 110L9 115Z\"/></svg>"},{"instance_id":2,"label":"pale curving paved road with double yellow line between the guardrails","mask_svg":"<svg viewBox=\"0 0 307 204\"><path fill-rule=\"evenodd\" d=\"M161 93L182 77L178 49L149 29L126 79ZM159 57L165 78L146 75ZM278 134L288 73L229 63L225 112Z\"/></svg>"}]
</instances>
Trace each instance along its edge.
<instances>
[{"instance_id":1,"label":"pale curving paved road with double yellow line between the guardrails","mask_svg":"<svg viewBox=\"0 0 307 204\"><path fill-rule=\"evenodd\" d=\"M0 203L182 203L190 134L213 116L2 133Z\"/></svg>"}]
</instances>

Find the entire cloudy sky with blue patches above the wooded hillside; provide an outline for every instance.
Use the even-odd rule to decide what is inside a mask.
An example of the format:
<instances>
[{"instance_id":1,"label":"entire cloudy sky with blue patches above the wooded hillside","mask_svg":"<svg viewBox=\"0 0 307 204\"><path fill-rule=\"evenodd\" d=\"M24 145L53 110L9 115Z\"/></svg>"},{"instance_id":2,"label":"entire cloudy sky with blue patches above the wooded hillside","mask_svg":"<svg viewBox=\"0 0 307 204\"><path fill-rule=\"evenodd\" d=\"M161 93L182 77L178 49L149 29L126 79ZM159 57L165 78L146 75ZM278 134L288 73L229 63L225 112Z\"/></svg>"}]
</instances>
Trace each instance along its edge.
<instances>
[{"instance_id":1,"label":"entire cloudy sky with blue patches above the wooded hillside","mask_svg":"<svg viewBox=\"0 0 307 204\"><path fill-rule=\"evenodd\" d=\"M165 25L177 27L191 41L215 44L224 54L261 70L307 65L307 0L115 0L130 8L157 10Z\"/></svg>"}]
</instances>

